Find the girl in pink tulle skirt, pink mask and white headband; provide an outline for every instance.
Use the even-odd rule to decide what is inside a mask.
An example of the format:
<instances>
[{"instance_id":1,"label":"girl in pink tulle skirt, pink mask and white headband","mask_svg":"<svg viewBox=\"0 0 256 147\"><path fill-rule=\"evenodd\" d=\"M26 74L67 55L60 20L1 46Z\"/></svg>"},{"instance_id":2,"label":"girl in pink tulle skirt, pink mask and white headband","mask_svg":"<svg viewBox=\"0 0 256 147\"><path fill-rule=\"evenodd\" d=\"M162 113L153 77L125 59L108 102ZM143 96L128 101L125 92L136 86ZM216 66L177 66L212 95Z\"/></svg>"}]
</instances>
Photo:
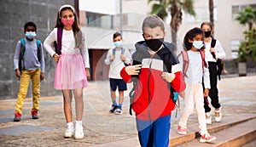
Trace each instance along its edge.
<instances>
[{"instance_id":1,"label":"girl in pink tulle skirt, pink mask and white headband","mask_svg":"<svg viewBox=\"0 0 256 147\"><path fill-rule=\"evenodd\" d=\"M51 46L57 42L56 50ZM67 122L65 138L84 139L82 118L84 112L83 89L87 87L89 56L85 48L84 34L71 5L63 5L58 11L55 29L44 41L44 48L55 59L55 89L62 90L64 113ZM73 93L72 93L73 91ZM72 96L75 99L76 123L73 127Z\"/></svg>"}]
</instances>

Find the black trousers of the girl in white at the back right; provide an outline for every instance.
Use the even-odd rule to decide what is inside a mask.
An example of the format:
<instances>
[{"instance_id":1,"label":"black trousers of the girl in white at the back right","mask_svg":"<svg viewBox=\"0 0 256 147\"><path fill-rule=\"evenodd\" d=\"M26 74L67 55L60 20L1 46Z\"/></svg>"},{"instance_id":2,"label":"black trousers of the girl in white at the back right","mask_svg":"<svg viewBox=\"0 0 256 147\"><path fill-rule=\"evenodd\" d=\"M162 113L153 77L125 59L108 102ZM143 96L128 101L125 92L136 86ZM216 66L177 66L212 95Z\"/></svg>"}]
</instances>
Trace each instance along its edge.
<instances>
[{"instance_id":1,"label":"black trousers of the girl in white at the back right","mask_svg":"<svg viewBox=\"0 0 256 147\"><path fill-rule=\"evenodd\" d=\"M210 72L210 85L211 89L209 90L209 97L211 99L211 104L215 109L218 109L220 107L220 104L218 102L218 75L217 75L217 64L216 62L208 62L209 64L209 72ZM209 103L207 98L204 99L204 107L206 112L210 112L211 108L209 107Z\"/></svg>"}]
</instances>

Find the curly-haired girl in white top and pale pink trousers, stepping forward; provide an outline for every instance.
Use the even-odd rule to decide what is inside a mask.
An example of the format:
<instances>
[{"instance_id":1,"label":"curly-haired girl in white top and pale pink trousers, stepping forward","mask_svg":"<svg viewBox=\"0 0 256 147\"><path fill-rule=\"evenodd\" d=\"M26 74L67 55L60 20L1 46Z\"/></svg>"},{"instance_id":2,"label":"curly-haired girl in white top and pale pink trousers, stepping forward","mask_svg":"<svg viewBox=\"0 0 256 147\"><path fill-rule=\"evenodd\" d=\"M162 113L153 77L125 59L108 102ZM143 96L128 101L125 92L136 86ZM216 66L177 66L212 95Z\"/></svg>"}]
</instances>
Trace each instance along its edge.
<instances>
[{"instance_id":1,"label":"curly-haired girl in white top and pale pink trousers, stepping forward","mask_svg":"<svg viewBox=\"0 0 256 147\"><path fill-rule=\"evenodd\" d=\"M207 122L204 110L204 96L207 96L210 88L209 71L207 62L204 60L204 32L200 28L189 30L183 40L185 50L189 58L189 67L183 73L187 88L185 89L185 107L183 115L180 117L177 133L186 134L187 122L194 107L197 112L199 129L201 133L200 142L212 142L216 137L207 132ZM183 63L183 56L179 56L179 61ZM203 80L202 80L203 79ZM205 86L203 91L202 82Z\"/></svg>"}]
</instances>

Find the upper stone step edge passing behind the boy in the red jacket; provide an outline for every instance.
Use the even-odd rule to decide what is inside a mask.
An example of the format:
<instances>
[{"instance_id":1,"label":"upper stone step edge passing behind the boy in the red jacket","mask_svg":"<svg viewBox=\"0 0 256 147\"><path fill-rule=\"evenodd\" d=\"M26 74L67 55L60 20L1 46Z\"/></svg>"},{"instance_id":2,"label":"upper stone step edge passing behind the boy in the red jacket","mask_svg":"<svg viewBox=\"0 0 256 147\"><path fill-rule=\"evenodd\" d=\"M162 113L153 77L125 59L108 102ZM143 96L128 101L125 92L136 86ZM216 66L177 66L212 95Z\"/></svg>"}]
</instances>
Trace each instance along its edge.
<instances>
[{"instance_id":1,"label":"upper stone step edge passing behind the boy in the red jacket","mask_svg":"<svg viewBox=\"0 0 256 147\"><path fill-rule=\"evenodd\" d=\"M255 114L237 114L236 116L224 116L223 120L221 122L213 122L212 125L208 125L207 130L211 134L216 133L220 130L227 129L228 127L235 126L242 122L247 122L249 120L253 120L254 118L256 120ZM254 128L255 128L255 125L254 125ZM189 141L200 137L198 130L199 130L198 124L192 124L192 125L188 126L186 135L179 135L179 134L177 134L177 128L172 128L169 146L175 146L178 144L188 143ZM219 138L218 135L216 135L216 137ZM137 137L134 137L134 138L123 139L123 140L114 141L114 142L110 142L110 143L106 143L106 144L98 144L98 145L95 145L94 147L115 147L115 146L139 147L140 145L139 145L139 141L138 141Z\"/></svg>"}]
</instances>

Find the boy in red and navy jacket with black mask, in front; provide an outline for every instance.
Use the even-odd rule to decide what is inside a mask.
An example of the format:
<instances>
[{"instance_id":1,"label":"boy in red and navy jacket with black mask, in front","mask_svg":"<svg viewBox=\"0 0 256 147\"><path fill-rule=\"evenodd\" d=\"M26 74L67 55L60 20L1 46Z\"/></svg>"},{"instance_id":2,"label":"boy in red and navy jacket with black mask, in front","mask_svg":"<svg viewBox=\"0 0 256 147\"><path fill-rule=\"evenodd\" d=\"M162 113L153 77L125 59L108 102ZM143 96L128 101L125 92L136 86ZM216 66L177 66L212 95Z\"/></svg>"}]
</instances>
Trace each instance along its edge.
<instances>
[{"instance_id":1,"label":"boy in red and navy jacket with black mask, in front","mask_svg":"<svg viewBox=\"0 0 256 147\"><path fill-rule=\"evenodd\" d=\"M175 108L173 91L185 88L174 44L163 42L165 26L156 15L143 20L145 41L137 42L132 65L120 72L125 82L134 82L131 107L136 113L137 131L142 147L169 144L171 114Z\"/></svg>"}]
</instances>

